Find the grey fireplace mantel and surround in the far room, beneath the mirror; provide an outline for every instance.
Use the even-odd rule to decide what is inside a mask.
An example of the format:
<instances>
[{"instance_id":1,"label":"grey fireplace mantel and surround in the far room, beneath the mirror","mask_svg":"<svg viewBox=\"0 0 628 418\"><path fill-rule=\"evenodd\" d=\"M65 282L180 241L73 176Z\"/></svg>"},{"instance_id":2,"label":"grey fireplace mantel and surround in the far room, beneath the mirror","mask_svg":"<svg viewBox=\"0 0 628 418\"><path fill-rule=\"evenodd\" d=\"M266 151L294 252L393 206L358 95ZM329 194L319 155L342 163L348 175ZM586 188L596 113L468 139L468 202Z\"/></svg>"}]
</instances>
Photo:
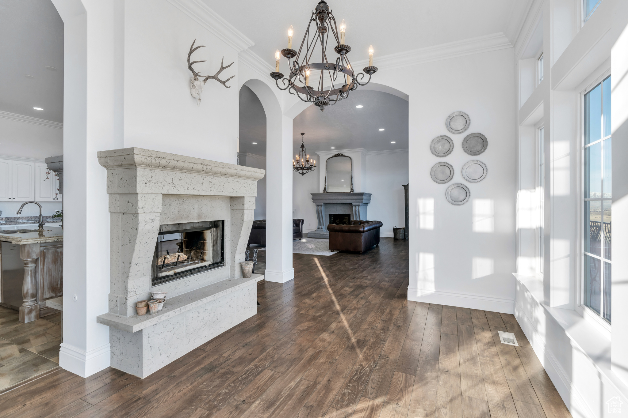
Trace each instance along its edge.
<instances>
[{"instance_id":1,"label":"grey fireplace mantel and surround in the far room, beneath the mirror","mask_svg":"<svg viewBox=\"0 0 628 418\"><path fill-rule=\"evenodd\" d=\"M366 221L366 207L371 203L371 193L312 193L316 205L317 229L308 233L308 238L329 239L327 225L329 214L349 215L350 221Z\"/></svg>"}]
</instances>

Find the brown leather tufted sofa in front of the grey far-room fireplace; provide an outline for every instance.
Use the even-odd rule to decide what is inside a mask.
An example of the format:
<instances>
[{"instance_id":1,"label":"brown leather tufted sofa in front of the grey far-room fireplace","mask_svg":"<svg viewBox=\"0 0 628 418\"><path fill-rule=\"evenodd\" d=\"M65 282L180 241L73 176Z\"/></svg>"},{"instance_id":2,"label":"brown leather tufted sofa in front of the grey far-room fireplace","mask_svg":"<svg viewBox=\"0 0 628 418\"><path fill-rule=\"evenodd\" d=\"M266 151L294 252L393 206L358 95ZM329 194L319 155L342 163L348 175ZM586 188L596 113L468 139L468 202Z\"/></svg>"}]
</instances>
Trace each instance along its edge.
<instances>
[{"instance_id":1,"label":"brown leather tufted sofa in front of the grey far-room fireplace","mask_svg":"<svg viewBox=\"0 0 628 418\"><path fill-rule=\"evenodd\" d=\"M379 244L380 221L351 221L350 225L329 224L329 249L359 251L360 254Z\"/></svg>"}]
</instances>

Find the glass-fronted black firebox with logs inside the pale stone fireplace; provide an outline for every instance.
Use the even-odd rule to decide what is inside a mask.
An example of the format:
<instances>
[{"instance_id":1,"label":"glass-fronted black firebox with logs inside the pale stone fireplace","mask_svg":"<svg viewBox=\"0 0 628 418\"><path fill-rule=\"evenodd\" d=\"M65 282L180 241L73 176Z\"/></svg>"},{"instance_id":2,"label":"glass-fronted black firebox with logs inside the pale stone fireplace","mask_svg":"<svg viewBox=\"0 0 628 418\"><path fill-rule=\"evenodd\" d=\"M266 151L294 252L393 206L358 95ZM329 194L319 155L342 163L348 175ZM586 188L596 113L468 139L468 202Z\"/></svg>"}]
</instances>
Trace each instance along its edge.
<instances>
[{"instance_id":1,"label":"glass-fronted black firebox with logs inside the pale stone fireplace","mask_svg":"<svg viewBox=\"0 0 628 418\"><path fill-rule=\"evenodd\" d=\"M160 225L153 286L225 265L224 221Z\"/></svg>"}]
</instances>

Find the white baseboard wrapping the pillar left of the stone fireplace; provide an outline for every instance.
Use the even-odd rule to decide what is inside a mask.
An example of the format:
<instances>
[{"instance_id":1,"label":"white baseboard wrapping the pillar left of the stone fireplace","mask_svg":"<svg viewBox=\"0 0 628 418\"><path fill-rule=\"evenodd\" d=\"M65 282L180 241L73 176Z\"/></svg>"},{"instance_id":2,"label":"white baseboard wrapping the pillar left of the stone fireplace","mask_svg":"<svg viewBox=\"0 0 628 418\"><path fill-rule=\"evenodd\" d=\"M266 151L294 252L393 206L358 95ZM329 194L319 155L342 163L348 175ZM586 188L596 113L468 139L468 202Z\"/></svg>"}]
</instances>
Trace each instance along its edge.
<instances>
[{"instance_id":1,"label":"white baseboard wrapping the pillar left of the stone fireplace","mask_svg":"<svg viewBox=\"0 0 628 418\"><path fill-rule=\"evenodd\" d=\"M68 343L61 343L59 365L80 377L91 376L111 365L111 345L106 343L85 352Z\"/></svg>"}]
</instances>

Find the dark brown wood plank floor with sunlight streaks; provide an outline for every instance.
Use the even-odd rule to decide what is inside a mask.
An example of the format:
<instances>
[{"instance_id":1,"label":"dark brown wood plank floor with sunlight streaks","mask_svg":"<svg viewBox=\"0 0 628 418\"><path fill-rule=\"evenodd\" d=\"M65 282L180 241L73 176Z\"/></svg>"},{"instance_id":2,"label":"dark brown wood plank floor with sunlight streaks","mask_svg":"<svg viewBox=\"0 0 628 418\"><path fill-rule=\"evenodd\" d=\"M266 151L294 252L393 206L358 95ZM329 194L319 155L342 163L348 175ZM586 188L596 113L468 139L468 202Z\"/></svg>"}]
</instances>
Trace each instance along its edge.
<instances>
[{"instance_id":1,"label":"dark brown wood plank floor with sunlight streaks","mask_svg":"<svg viewBox=\"0 0 628 418\"><path fill-rule=\"evenodd\" d=\"M570 416L514 316L406 300L407 241L294 261L294 281L259 285L256 316L148 378L55 370L0 396L0 415Z\"/></svg>"}]
</instances>

